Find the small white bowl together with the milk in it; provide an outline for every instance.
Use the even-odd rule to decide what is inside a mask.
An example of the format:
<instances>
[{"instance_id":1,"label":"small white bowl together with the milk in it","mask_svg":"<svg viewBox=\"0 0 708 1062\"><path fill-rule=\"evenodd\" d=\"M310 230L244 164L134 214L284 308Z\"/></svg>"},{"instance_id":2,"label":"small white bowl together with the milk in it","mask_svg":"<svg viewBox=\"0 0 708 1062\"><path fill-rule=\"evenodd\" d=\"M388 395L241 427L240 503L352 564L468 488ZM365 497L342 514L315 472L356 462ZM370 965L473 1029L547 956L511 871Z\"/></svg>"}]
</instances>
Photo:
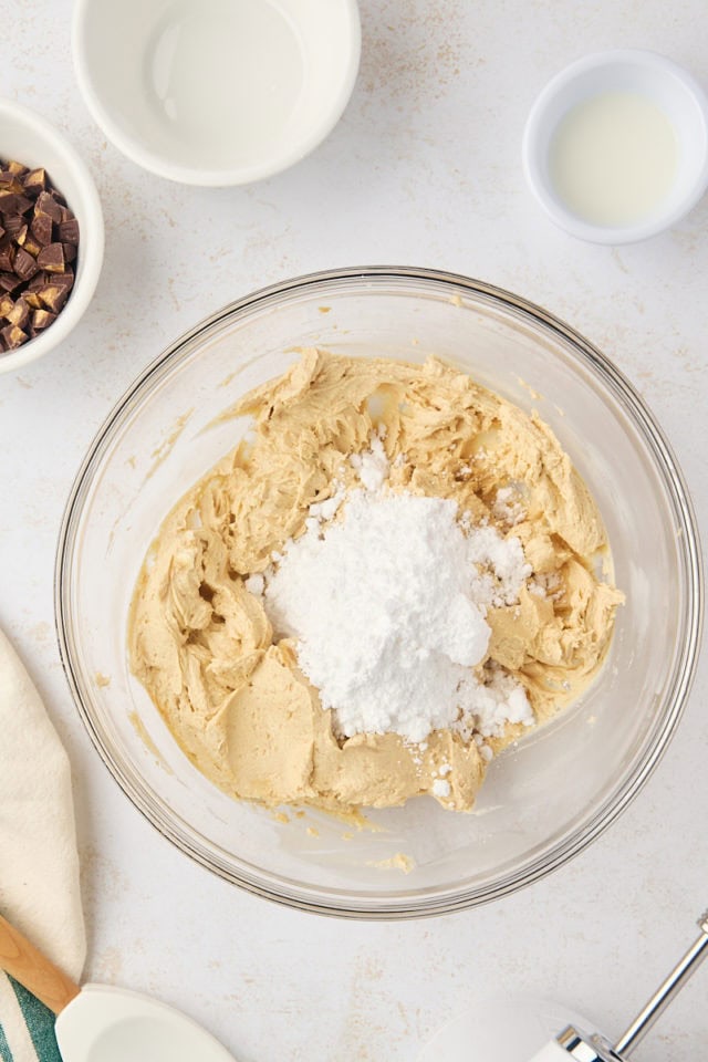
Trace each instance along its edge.
<instances>
[{"instance_id":1,"label":"small white bowl together with the milk in it","mask_svg":"<svg viewBox=\"0 0 708 1062\"><path fill-rule=\"evenodd\" d=\"M553 77L523 135L527 180L561 228L633 243L675 225L708 187L708 98L671 60L617 50Z\"/></svg>"}]
</instances>

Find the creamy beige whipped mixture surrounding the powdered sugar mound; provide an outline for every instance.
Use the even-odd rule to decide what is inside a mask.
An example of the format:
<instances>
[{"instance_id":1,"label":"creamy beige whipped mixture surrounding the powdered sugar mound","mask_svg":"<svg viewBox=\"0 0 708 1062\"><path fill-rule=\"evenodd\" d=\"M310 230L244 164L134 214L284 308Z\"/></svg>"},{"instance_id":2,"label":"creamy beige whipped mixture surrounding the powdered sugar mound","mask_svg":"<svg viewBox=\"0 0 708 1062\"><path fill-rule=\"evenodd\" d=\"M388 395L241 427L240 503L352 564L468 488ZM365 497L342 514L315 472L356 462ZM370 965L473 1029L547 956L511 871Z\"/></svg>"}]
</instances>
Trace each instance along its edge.
<instances>
[{"instance_id":1,"label":"creamy beige whipped mixture surrounding the powdered sugar mound","mask_svg":"<svg viewBox=\"0 0 708 1062\"><path fill-rule=\"evenodd\" d=\"M232 796L391 806L431 794L449 763L440 803L469 810L488 766L477 743L448 730L425 748L395 733L337 739L295 645L274 643L244 580L303 532L335 480L357 486L348 458L383 424L391 489L452 498L521 540L537 592L524 585L518 604L489 610L489 658L523 684L543 722L596 674L622 600L596 574L605 532L569 457L535 414L434 358L308 350L233 413L253 418L253 437L177 503L143 566L129 621L135 675L187 756ZM510 485L523 500L513 525L494 504ZM508 725L488 743L498 752L524 732Z\"/></svg>"}]
</instances>

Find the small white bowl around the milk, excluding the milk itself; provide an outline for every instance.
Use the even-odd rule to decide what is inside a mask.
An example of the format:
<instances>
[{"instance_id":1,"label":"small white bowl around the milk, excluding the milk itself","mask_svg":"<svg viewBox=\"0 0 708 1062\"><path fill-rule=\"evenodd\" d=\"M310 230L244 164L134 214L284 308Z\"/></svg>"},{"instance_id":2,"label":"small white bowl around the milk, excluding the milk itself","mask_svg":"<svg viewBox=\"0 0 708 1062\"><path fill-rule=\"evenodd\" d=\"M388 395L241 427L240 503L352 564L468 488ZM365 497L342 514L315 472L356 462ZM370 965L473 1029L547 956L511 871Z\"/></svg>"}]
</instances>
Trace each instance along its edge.
<instances>
[{"instance_id":1,"label":"small white bowl around the milk, excluding the milk itself","mask_svg":"<svg viewBox=\"0 0 708 1062\"><path fill-rule=\"evenodd\" d=\"M639 221L594 225L565 205L554 187L549 154L553 135L572 107L604 92L638 93L674 126L677 171L669 194ZM634 243L675 225L708 187L708 100L685 70L655 52L627 49L585 55L556 74L531 108L523 134L523 169L549 217L571 236L595 243Z\"/></svg>"}]
</instances>

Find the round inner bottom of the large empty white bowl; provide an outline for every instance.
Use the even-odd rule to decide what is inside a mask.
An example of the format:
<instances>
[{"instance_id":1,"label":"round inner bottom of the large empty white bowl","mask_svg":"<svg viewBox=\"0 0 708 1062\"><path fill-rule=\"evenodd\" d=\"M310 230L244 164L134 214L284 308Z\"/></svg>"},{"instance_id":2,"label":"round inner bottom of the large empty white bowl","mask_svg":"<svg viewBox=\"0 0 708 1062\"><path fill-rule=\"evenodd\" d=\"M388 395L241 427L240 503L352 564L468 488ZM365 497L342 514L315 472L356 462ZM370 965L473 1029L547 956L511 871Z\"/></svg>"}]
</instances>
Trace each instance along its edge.
<instances>
[{"instance_id":1,"label":"round inner bottom of the large empty white bowl","mask_svg":"<svg viewBox=\"0 0 708 1062\"><path fill-rule=\"evenodd\" d=\"M195 165L258 157L283 136L304 80L302 48L270 0L175 0L146 54L158 121Z\"/></svg>"}]
</instances>

